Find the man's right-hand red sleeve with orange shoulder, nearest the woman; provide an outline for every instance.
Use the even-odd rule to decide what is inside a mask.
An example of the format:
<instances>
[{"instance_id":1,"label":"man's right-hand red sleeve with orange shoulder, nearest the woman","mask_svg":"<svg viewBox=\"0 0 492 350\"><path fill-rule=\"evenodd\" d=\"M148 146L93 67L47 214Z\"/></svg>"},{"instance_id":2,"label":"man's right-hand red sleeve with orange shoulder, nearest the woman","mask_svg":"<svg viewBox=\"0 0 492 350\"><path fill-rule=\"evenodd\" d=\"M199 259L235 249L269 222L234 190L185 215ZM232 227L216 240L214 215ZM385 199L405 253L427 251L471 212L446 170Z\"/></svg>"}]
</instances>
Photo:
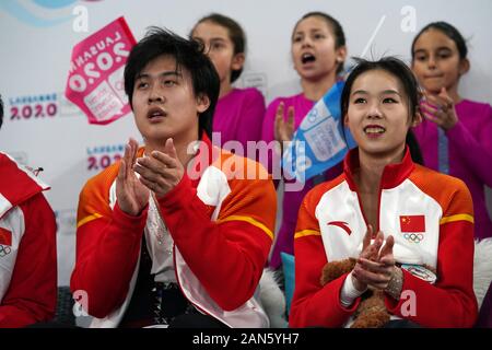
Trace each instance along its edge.
<instances>
[{"instance_id":1,"label":"man's right-hand red sleeve with orange shoulder, nearest the woman","mask_svg":"<svg viewBox=\"0 0 492 350\"><path fill-rule=\"evenodd\" d=\"M276 191L270 179L230 180L216 221L185 175L159 200L164 221L187 265L225 311L248 301L272 243Z\"/></svg>"}]
</instances>

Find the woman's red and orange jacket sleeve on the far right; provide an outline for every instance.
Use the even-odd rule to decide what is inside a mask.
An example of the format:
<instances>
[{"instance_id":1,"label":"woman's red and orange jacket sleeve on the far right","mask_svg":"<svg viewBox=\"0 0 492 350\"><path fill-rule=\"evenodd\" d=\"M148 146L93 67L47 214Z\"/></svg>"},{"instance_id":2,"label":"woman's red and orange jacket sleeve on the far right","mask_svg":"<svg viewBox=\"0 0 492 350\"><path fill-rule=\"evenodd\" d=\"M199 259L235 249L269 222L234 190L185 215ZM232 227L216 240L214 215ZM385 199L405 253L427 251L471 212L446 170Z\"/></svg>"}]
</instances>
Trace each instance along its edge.
<instances>
[{"instance_id":1,"label":"woman's red and orange jacket sleeve on the far right","mask_svg":"<svg viewBox=\"0 0 492 350\"><path fill-rule=\"evenodd\" d=\"M437 281L430 284L403 272L405 298L396 302L387 296L386 306L389 312L424 327L471 327L478 315L473 292L471 196L461 180L446 176L442 182L443 186L453 190L442 190L442 197L435 197L443 206L437 249Z\"/></svg>"}]
</instances>

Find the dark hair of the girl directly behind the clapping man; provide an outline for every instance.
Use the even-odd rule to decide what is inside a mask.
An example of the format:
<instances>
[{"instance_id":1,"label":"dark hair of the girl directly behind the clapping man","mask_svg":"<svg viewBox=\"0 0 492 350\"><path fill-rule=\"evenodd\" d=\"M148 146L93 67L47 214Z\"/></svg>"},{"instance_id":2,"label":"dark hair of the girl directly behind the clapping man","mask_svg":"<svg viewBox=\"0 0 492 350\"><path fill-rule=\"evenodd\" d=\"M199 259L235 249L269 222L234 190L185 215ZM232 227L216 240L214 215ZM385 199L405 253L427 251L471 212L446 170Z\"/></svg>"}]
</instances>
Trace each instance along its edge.
<instances>
[{"instance_id":1,"label":"dark hair of the girl directly behind the clapping man","mask_svg":"<svg viewBox=\"0 0 492 350\"><path fill-rule=\"evenodd\" d=\"M211 13L209 15L206 15L204 18L201 18L197 22L195 27L197 27L198 24L203 22L211 22L227 30L229 38L231 39L234 46L234 55L244 54L246 51L246 34L244 33L239 23L223 14ZM190 37L192 36L195 27L191 30L191 33L189 35ZM232 83L235 82L237 78L239 78L242 72L243 68L233 70L231 72L231 82Z\"/></svg>"}]
</instances>

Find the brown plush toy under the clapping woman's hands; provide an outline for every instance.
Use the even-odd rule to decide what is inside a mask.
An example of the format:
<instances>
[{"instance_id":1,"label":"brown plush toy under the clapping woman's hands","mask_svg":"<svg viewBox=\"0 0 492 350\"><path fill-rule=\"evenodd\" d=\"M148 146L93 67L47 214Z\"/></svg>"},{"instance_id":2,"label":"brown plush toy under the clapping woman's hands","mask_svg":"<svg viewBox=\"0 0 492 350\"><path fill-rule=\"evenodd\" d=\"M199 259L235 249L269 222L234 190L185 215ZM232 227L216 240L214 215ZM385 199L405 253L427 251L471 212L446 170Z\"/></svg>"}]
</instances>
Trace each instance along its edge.
<instances>
[{"instance_id":1,"label":"brown plush toy under the clapping woman's hands","mask_svg":"<svg viewBox=\"0 0 492 350\"><path fill-rule=\"evenodd\" d=\"M349 273L355 262L354 258L327 262L323 268L321 285ZM351 328L379 328L387 322L389 322L389 313L386 310L384 292L368 289L362 295L362 302L355 311Z\"/></svg>"}]
</instances>

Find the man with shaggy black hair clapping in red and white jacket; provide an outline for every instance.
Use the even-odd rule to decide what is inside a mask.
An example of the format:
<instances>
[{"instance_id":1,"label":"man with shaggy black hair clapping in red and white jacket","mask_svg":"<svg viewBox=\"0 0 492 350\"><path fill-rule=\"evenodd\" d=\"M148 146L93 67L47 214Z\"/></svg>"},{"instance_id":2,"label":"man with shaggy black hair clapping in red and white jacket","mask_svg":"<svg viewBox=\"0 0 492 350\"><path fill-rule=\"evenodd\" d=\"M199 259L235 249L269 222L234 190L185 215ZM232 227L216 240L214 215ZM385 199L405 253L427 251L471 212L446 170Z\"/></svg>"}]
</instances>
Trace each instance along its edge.
<instances>
[{"instance_id":1,"label":"man with shaggy black hair clapping in red and white jacket","mask_svg":"<svg viewBox=\"0 0 492 350\"><path fill-rule=\"evenodd\" d=\"M80 194L71 289L93 327L268 327L255 298L276 191L258 163L212 147L219 77L201 44L153 27L125 91L143 148Z\"/></svg>"}]
</instances>

